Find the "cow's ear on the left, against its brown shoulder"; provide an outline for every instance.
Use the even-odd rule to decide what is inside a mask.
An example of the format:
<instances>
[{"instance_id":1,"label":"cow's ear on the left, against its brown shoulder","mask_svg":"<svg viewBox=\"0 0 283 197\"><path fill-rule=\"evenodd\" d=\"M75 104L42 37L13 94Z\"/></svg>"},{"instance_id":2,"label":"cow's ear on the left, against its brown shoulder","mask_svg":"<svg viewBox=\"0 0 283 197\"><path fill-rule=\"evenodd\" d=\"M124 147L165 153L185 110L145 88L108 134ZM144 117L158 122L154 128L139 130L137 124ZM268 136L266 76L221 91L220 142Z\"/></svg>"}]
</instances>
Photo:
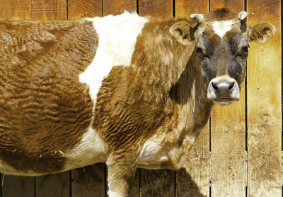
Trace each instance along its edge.
<instances>
[{"instance_id":1,"label":"cow's ear on the left, against its brown shoulder","mask_svg":"<svg viewBox=\"0 0 283 197\"><path fill-rule=\"evenodd\" d=\"M178 42L188 45L194 39L196 25L195 20L181 20L172 25L169 32Z\"/></svg>"}]
</instances>

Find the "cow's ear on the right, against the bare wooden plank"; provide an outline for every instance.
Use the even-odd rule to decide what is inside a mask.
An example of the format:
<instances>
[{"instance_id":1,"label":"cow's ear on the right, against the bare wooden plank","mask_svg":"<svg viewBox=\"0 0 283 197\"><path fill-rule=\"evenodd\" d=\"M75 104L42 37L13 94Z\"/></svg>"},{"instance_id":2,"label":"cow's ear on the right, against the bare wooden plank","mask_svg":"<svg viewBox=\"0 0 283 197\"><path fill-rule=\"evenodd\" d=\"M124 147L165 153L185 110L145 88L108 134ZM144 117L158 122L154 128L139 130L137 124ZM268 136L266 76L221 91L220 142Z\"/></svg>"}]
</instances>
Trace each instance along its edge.
<instances>
[{"instance_id":1,"label":"cow's ear on the right, against the bare wooden plank","mask_svg":"<svg viewBox=\"0 0 283 197\"><path fill-rule=\"evenodd\" d=\"M271 23L259 22L251 28L249 40L258 43L265 43L267 40L270 40L273 35L275 35L275 32L276 28Z\"/></svg>"}]
</instances>

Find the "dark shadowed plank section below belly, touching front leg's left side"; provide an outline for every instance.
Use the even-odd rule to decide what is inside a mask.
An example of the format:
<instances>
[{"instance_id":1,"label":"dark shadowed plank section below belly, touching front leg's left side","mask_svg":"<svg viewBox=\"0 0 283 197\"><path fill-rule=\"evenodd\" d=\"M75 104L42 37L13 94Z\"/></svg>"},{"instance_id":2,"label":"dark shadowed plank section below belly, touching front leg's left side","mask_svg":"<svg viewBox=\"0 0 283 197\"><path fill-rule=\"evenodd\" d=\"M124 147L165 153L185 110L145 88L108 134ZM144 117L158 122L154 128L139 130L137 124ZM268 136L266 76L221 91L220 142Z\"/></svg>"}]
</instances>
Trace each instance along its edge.
<instances>
[{"instance_id":1,"label":"dark shadowed plank section below belly, touching front leg's left side","mask_svg":"<svg viewBox=\"0 0 283 197\"><path fill-rule=\"evenodd\" d=\"M71 196L105 196L105 165L96 164L71 171Z\"/></svg>"}]
</instances>

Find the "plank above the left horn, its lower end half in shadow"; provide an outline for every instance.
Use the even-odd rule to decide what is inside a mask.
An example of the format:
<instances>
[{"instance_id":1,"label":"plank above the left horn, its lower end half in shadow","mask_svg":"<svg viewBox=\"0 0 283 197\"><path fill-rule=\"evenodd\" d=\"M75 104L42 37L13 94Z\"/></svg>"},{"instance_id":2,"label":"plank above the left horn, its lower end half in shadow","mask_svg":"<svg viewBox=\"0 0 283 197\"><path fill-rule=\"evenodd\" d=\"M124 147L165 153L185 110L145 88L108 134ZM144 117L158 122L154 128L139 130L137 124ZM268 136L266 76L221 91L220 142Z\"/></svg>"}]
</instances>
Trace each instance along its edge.
<instances>
[{"instance_id":1,"label":"plank above the left horn, its lower end half in shadow","mask_svg":"<svg viewBox=\"0 0 283 197\"><path fill-rule=\"evenodd\" d=\"M175 16L189 18L192 13L208 13L209 1L175 0ZM186 170L176 172L176 196L209 196L209 124L202 129L187 155Z\"/></svg>"}]
</instances>

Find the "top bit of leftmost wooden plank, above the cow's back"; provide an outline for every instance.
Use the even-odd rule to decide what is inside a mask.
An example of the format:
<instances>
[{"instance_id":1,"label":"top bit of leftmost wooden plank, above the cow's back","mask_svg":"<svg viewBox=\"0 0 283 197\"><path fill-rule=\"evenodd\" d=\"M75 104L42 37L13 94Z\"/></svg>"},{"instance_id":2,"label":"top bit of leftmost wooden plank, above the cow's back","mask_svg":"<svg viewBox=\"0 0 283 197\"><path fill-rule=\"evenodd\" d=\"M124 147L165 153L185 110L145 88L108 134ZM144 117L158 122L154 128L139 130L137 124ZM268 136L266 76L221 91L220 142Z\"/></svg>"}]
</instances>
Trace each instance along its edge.
<instances>
[{"instance_id":1,"label":"top bit of leftmost wooden plank, above the cow's back","mask_svg":"<svg viewBox=\"0 0 283 197\"><path fill-rule=\"evenodd\" d=\"M30 19L31 0L1 0L1 18L24 18Z\"/></svg>"}]
</instances>

